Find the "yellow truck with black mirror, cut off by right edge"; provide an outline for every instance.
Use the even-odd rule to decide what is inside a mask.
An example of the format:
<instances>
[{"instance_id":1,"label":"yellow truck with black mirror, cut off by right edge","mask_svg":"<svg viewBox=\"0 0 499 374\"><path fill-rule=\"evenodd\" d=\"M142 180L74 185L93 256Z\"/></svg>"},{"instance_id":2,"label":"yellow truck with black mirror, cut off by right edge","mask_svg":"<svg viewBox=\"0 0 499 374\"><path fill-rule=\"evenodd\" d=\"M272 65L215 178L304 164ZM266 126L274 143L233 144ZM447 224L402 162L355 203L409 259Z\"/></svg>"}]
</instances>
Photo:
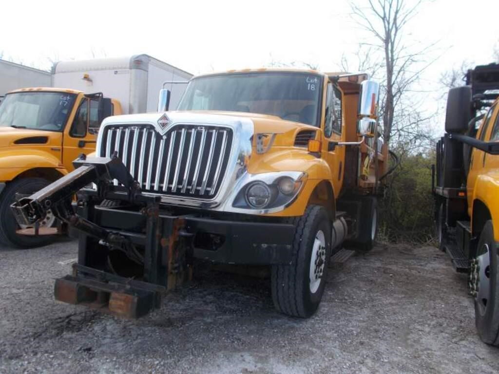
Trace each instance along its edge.
<instances>
[{"instance_id":1,"label":"yellow truck with black mirror, cut off by right edge","mask_svg":"<svg viewBox=\"0 0 499 374\"><path fill-rule=\"evenodd\" d=\"M433 178L440 249L469 274L480 338L499 346L499 64L449 91L445 130Z\"/></svg>"}]
</instances>

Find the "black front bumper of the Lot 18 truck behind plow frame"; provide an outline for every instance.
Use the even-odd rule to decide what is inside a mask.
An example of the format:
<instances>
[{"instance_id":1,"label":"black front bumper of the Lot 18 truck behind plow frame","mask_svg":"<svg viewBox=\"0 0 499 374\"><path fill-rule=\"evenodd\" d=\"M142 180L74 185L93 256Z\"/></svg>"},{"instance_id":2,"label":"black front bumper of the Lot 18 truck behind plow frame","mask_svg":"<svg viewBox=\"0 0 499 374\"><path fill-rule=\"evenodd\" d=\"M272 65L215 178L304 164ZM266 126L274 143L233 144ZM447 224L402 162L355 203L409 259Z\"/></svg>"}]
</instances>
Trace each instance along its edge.
<instances>
[{"instance_id":1,"label":"black front bumper of the Lot 18 truck behind plow frame","mask_svg":"<svg viewBox=\"0 0 499 374\"><path fill-rule=\"evenodd\" d=\"M138 211L95 206L93 217L97 225L118 231L145 246L141 232L147 216ZM195 258L226 264L269 265L288 264L292 257L294 226L286 223L234 221L207 218L199 214L173 216L159 214L158 226L162 238L168 238L168 227L175 220L183 221L183 237Z\"/></svg>"}]
</instances>

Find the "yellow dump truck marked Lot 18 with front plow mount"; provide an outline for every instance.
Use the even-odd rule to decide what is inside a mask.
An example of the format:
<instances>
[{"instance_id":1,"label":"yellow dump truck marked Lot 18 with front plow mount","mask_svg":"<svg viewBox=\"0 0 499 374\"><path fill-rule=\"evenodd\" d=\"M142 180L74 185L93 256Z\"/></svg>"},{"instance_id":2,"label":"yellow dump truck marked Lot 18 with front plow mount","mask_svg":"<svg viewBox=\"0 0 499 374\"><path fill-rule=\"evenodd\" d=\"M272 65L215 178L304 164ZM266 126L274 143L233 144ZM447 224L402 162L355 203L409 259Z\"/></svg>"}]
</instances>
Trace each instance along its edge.
<instances>
[{"instance_id":1,"label":"yellow dump truck marked Lot 18 with front plow mount","mask_svg":"<svg viewBox=\"0 0 499 374\"><path fill-rule=\"evenodd\" d=\"M55 298L140 317L195 259L269 270L275 307L309 317L330 261L372 248L388 147L366 74L257 69L194 77L177 111L104 120L97 157L12 205L80 231ZM78 201L71 206L71 196Z\"/></svg>"}]
</instances>

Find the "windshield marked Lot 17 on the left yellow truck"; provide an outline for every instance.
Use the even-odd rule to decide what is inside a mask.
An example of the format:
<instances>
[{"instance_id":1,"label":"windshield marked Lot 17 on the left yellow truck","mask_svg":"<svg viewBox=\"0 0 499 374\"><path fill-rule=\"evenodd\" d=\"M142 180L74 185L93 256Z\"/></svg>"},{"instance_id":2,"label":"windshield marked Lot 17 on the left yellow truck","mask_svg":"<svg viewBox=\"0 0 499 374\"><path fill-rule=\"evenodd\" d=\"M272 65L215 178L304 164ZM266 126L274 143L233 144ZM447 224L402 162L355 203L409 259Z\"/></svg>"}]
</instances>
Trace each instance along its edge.
<instances>
[{"instance_id":1,"label":"windshield marked Lot 17 on the left yellow truck","mask_svg":"<svg viewBox=\"0 0 499 374\"><path fill-rule=\"evenodd\" d=\"M0 126L62 131L75 95L66 92L15 92L0 105Z\"/></svg>"}]
</instances>

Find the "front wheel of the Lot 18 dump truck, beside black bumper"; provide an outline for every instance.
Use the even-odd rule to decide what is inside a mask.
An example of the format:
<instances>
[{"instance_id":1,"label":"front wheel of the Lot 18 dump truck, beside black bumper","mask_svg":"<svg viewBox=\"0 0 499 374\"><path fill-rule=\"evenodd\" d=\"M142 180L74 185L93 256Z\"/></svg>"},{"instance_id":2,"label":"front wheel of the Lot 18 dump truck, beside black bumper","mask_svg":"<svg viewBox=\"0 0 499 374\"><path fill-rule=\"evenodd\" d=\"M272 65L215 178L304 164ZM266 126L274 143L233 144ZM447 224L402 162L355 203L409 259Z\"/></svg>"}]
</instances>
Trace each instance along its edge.
<instances>
[{"instance_id":1,"label":"front wheel of the Lot 18 dump truck, beside black bumper","mask_svg":"<svg viewBox=\"0 0 499 374\"><path fill-rule=\"evenodd\" d=\"M309 205L292 223L292 261L272 266L272 300L280 312L308 318L317 310L324 293L331 257L331 219L324 207Z\"/></svg>"}]
</instances>

